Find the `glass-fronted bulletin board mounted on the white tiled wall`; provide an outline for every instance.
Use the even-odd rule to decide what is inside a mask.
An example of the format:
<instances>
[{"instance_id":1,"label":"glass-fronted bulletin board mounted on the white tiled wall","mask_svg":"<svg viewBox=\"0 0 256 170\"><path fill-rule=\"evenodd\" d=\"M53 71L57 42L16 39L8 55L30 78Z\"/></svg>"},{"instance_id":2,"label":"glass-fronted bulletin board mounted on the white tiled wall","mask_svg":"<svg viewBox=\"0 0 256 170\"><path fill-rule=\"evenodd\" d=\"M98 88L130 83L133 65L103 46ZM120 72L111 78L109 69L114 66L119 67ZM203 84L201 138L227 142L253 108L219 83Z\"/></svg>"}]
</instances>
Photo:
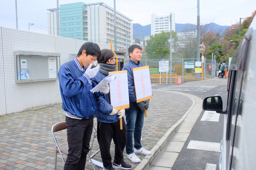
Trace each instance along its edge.
<instances>
[{"instance_id":1,"label":"glass-fronted bulletin board mounted on the white tiled wall","mask_svg":"<svg viewBox=\"0 0 256 170\"><path fill-rule=\"evenodd\" d=\"M14 51L15 82L38 82L58 79L59 53Z\"/></svg>"}]
</instances>

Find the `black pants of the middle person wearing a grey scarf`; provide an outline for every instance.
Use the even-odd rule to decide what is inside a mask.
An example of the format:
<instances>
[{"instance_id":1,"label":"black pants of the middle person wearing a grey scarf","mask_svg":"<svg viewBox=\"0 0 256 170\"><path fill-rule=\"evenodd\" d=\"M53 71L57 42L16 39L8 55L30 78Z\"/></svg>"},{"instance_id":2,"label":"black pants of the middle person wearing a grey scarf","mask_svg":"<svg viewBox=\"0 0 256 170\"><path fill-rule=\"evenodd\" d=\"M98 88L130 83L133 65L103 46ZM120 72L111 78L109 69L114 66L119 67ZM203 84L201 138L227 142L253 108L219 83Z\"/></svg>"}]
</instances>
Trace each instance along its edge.
<instances>
[{"instance_id":1,"label":"black pants of the middle person wearing a grey scarf","mask_svg":"<svg viewBox=\"0 0 256 170\"><path fill-rule=\"evenodd\" d=\"M115 144L114 162L119 163L124 158L123 152L127 142L125 119L122 117L122 127L120 130L120 120L114 123L103 123L97 121L97 139L104 167L112 165L110 145L113 138Z\"/></svg>"}]
</instances>

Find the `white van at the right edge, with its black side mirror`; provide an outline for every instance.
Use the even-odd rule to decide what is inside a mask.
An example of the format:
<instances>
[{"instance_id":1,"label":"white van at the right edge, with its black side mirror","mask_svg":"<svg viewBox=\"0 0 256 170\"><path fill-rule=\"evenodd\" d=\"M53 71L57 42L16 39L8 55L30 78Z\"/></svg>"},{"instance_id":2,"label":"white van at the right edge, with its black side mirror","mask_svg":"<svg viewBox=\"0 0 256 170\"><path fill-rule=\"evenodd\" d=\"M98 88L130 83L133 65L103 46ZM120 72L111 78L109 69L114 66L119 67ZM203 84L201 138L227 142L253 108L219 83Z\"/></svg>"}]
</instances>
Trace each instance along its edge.
<instances>
[{"instance_id":1,"label":"white van at the right edge, with its black side mirror","mask_svg":"<svg viewBox=\"0 0 256 170\"><path fill-rule=\"evenodd\" d=\"M221 96L206 97L203 109L224 115L220 170L256 170L256 19L229 66L227 108Z\"/></svg>"}]
</instances>

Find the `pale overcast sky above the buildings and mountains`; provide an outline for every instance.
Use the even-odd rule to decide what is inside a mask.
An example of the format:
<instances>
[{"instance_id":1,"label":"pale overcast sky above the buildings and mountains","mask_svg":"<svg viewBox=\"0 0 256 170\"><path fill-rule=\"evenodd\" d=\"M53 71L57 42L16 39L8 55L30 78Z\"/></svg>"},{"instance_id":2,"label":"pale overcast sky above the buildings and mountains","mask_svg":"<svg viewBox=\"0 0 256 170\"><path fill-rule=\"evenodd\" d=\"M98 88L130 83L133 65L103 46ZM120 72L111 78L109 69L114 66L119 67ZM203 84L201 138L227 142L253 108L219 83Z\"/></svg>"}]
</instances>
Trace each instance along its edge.
<instances>
[{"instance_id":1,"label":"pale overcast sky above the buildings and mountains","mask_svg":"<svg viewBox=\"0 0 256 170\"><path fill-rule=\"evenodd\" d=\"M47 34L47 11L57 8L56 0L17 0L18 28L29 31L29 23L35 26L30 31ZM114 8L113 0L59 0L67 3L103 2ZM131 18L133 23L150 24L151 14L175 13L175 23L197 23L197 0L116 0L116 10ZM256 0L201 0L201 23L216 23L231 26L239 18L248 17L256 10ZM0 0L0 26L16 28L15 0Z\"/></svg>"}]
</instances>

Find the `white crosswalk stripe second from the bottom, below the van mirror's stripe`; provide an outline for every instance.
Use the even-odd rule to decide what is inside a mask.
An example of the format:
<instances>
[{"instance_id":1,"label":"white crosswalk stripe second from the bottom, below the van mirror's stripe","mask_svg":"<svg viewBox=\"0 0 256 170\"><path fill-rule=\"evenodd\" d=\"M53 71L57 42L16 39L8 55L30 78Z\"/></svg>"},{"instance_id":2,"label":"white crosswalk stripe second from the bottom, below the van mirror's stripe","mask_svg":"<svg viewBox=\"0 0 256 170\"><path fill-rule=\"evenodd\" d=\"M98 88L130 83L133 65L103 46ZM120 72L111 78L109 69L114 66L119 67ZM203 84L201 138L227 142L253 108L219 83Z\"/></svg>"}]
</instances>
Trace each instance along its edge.
<instances>
[{"instance_id":1,"label":"white crosswalk stripe second from the bottom, below the van mirror's stripe","mask_svg":"<svg viewBox=\"0 0 256 170\"><path fill-rule=\"evenodd\" d=\"M214 152L221 152L220 143L204 142L204 141L190 141L187 149L208 150Z\"/></svg>"}]
</instances>

